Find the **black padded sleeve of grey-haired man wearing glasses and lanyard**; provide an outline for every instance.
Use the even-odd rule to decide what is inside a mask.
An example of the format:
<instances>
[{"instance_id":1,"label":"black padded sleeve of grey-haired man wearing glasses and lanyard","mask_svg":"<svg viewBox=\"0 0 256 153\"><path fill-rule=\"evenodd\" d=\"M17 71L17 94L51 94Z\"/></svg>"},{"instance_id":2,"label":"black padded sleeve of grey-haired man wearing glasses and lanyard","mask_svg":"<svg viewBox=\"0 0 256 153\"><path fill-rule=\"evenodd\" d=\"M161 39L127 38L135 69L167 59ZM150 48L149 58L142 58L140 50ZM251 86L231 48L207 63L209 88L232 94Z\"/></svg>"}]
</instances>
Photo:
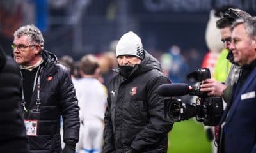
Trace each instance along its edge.
<instances>
[{"instance_id":1,"label":"black padded sleeve of grey-haired man wearing glasses and lanyard","mask_svg":"<svg viewBox=\"0 0 256 153\"><path fill-rule=\"evenodd\" d=\"M63 140L79 140L79 106L76 92L70 74L67 70L62 75L60 82L60 109L63 117Z\"/></svg>"}]
</instances>

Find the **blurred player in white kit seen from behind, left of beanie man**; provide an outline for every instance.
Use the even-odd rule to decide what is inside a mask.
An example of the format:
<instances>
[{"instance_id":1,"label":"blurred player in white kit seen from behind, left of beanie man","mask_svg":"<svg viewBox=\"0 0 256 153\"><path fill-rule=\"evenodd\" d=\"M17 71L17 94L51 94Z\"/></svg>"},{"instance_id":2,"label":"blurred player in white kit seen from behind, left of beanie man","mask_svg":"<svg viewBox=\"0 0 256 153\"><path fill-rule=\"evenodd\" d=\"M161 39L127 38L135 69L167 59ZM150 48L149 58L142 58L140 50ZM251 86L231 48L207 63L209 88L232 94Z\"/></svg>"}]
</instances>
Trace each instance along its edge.
<instances>
[{"instance_id":1,"label":"blurred player in white kit seen from behind, left of beanie man","mask_svg":"<svg viewBox=\"0 0 256 153\"><path fill-rule=\"evenodd\" d=\"M99 81L100 68L94 55L82 57L79 69L81 79L77 80L75 88L81 108L81 128L80 142L77 143L76 150L79 153L98 153L103 145L106 89Z\"/></svg>"}]
</instances>

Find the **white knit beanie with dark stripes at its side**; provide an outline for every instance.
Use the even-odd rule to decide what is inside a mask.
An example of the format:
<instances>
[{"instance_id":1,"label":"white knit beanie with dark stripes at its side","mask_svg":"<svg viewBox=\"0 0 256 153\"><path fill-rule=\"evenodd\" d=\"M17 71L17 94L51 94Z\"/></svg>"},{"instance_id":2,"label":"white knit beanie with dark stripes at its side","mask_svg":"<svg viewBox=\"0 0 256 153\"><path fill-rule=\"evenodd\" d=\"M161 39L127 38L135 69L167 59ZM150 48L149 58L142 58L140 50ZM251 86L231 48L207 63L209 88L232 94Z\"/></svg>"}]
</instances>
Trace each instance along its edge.
<instances>
[{"instance_id":1,"label":"white knit beanie with dark stripes at its side","mask_svg":"<svg viewBox=\"0 0 256 153\"><path fill-rule=\"evenodd\" d=\"M134 55L144 58L141 39L132 31L125 33L116 45L116 57L120 55Z\"/></svg>"}]
</instances>

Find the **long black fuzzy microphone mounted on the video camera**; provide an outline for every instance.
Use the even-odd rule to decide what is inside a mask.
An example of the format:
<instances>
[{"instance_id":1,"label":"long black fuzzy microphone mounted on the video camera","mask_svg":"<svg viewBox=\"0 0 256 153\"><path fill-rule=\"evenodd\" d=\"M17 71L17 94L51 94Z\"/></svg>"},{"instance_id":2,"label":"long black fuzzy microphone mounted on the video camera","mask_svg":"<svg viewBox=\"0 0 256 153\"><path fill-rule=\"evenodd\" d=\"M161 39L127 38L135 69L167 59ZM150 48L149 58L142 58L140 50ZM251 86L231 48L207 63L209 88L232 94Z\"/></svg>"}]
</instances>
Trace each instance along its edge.
<instances>
[{"instance_id":1,"label":"long black fuzzy microphone mounted on the video camera","mask_svg":"<svg viewBox=\"0 0 256 153\"><path fill-rule=\"evenodd\" d=\"M172 97L172 96L184 96L191 91L192 87L188 84L163 84L157 88L159 96Z\"/></svg>"}]
</instances>

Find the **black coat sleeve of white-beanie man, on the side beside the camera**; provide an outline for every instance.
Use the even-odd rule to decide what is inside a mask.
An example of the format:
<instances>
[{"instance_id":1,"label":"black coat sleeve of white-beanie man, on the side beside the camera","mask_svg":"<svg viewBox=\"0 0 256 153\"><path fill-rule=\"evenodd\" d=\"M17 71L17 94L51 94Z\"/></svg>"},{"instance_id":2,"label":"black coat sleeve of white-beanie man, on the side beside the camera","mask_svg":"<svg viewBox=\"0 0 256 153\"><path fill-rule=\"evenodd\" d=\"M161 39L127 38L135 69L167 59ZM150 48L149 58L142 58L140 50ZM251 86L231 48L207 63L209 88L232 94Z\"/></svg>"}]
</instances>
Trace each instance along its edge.
<instances>
[{"instance_id":1,"label":"black coat sleeve of white-beanie man, on the side beside the camera","mask_svg":"<svg viewBox=\"0 0 256 153\"><path fill-rule=\"evenodd\" d=\"M147 85L149 122L132 142L131 147L137 151L147 149L148 146L157 145L161 140L167 139L168 132L172 129L173 124L164 121L164 100L166 98L160 97L156 92L159 85L167 83L170 83L168 78L157 77Z\"/></svg>"}]
</instances>

